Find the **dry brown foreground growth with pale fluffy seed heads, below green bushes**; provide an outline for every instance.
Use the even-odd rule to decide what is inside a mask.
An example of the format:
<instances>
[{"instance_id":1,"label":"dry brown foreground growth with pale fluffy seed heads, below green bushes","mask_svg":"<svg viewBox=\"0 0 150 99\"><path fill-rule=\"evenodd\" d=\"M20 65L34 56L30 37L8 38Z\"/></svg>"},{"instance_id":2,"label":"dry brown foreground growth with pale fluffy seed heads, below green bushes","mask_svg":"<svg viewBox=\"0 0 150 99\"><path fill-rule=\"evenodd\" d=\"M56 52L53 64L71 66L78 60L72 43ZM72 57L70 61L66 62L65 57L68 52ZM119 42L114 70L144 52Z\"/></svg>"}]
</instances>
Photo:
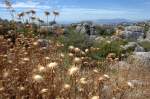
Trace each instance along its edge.
<instances>
[{"instance_id":1,"label":"dry brown foreground growth with pale fluffy seed heads, below green bushes","mask_svg":"<svg viewBox=\"0 0 150 99\"><path fill-rule=\"evenodd\" d=\"M15 46L0 37L0 99L149 99L149 71L143 64L119 66L109 54L105 61L74 46L19 35ZM110 61L111 60L111 61ZM115 65L114 65L115 64ZM105 67L105 68L101 68Z\"/></svg>"}]
</instances>

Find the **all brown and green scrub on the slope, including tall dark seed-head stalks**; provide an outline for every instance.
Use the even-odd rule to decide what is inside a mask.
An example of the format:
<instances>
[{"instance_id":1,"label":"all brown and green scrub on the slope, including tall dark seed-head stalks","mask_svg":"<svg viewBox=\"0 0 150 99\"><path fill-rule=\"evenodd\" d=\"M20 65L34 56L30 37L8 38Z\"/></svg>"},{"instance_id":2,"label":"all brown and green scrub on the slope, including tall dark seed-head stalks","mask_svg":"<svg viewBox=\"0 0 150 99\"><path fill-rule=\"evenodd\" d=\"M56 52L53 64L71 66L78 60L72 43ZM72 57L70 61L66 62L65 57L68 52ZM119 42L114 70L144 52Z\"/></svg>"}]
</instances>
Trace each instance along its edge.
<instances>
[{"instance_id":1,"label":"all brown and green scrub on the slope, including tall dark seed-head stalks","mask_svg":"<svg viewBox=\"0 0 150 99\"><path fill-rule=\"evenodd\" d=\"M150 98L149 67L127 57L134 50L112 39L115 27L97 26L97 41L74 26L55 26L59 12L52 13L52 22L50 12L44 22L30 10L18 14L20 22L12 16L0 23L0 99ZM140 45L149 51L148 42Z\"/></svg>"}]
</instances>

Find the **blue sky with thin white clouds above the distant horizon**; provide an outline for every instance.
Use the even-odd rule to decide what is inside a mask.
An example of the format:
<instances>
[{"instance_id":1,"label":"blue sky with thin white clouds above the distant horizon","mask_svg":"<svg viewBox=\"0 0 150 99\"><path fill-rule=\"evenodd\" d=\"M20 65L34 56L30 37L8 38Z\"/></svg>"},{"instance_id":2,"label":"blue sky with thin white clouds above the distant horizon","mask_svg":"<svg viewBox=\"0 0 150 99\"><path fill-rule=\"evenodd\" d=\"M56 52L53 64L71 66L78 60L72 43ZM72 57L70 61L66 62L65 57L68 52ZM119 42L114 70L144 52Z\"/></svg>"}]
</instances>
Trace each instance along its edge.
<instances>
[{"instance_id":1,"label":"blue sky with thin white clouds above the distant horizon","mask_svg":"<svg viewBox=\"0 0 150 99\"><path fill-rule=\"evenodd\" d=\"M57 21L97 19L150 19L150 0L11 0L16 13L34 9L44 18L43 11L59 11ZM0 17L10 19L4 0L0 0ZM53 15L50 19L53 19Z\"/></svg>"}]
</instances>

